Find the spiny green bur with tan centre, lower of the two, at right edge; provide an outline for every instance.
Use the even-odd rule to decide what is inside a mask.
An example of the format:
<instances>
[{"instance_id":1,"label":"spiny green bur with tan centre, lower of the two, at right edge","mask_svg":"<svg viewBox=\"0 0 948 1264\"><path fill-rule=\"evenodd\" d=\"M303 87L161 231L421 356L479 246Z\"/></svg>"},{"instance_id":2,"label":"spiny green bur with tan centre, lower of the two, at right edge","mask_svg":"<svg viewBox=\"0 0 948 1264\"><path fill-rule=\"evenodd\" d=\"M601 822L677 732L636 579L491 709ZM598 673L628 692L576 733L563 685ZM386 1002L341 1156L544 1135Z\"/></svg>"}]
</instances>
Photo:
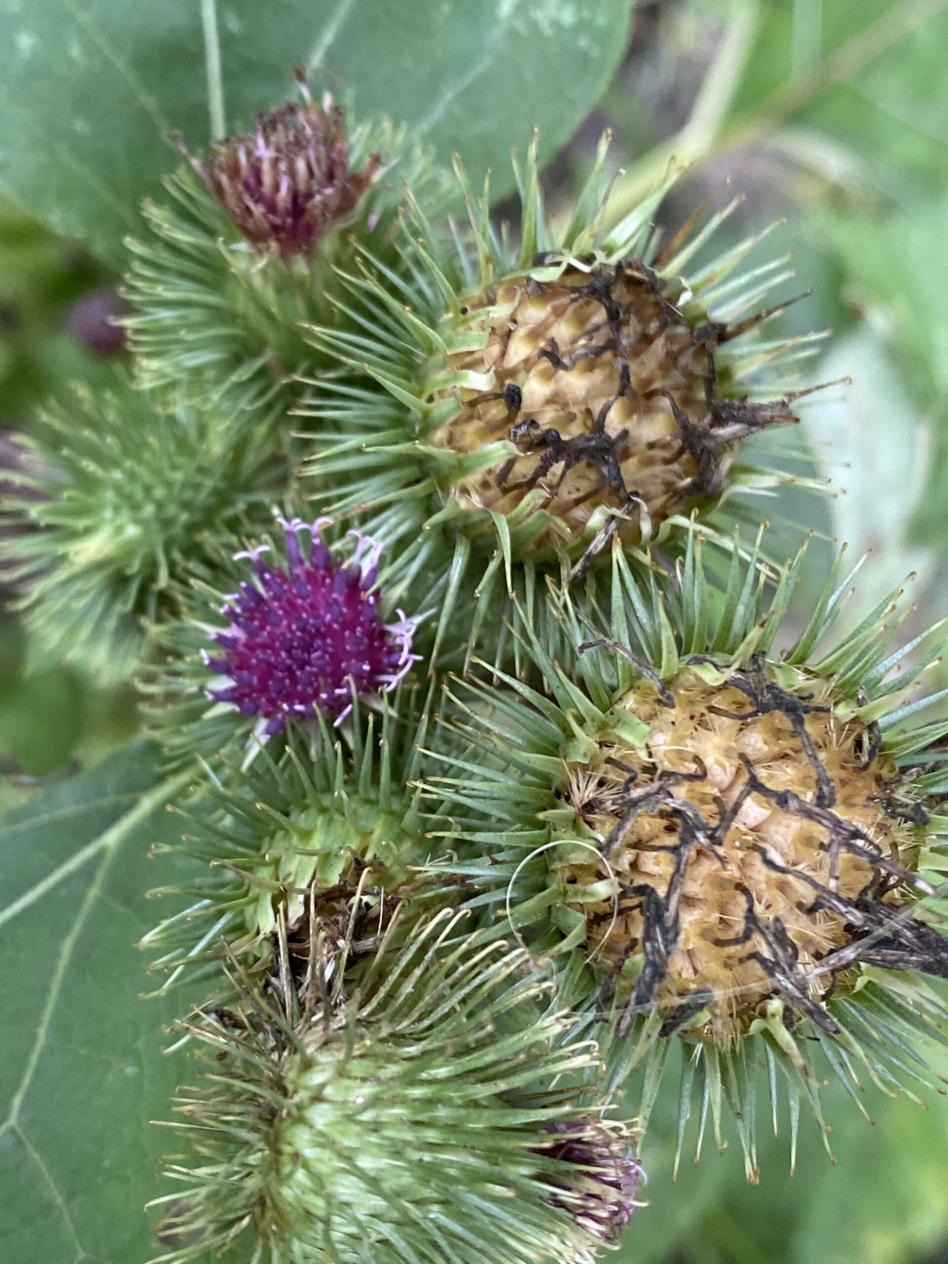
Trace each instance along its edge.
<instances>
[{"instance_id":1,"label":"spiny green bur with tan centre, lower of the two, at right edge","mask_svg":"<svg viewBox=\"0 0 948 1264\"><path fill-rule=\"evenodd\" d=\"M723 1081L753 1179L755 1048L819 1111L798 1030L851 1090L860 1064L889 1087L905 1040L943 1015L905 972L948 977L920 875L943 867L948 722L909 724L924 704L904 691L937 651L891 679L921 640L887 655L894 604L818 656L846 586L830 585L775 655L800 559L767 602L756 554L746 574L734 554L715 612L699 554L689 537L672 580L633 576L616 546L605 627L565 597L571 652L554 664L528 646L550 696L503 675L464 685L458 723L483 769L445 755L432 794L447 815L483 814L449 829L446 868L493 890L497 916L570 986L585 971L614 1081L646 1060L653 1092L669 1038L684 1039L681 1126L698 1069L717 1130Z\"/></svg>"}]
</instances>

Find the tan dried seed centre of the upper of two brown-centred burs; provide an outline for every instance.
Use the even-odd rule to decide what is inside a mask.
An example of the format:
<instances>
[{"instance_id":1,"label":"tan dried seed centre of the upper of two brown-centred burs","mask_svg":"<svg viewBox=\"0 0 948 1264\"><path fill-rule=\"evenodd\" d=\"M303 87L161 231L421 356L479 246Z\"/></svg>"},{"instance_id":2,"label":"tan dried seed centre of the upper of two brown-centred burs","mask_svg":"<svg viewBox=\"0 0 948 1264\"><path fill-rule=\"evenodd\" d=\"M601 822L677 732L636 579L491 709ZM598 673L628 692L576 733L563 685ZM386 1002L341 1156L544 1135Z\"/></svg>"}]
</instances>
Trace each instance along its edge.
<instances>
[{"instance_id":1,"label":"tan dried seed centre of the upper of two brown-centred burs","mask_svg":"<svg viewBox=\"0 0 948 1264\"><path fill-rule=\"evenodd\" d=\"M463 407L431 437L459 454L509 439L520 455L453 488L464 508L511 514L533 489L551 514L535 551L581 538L602 507L637 544L652 526L719 492L739 441L798 418L790 401L724 401L715 351L723 325L694 326L641 259L575 264L552 282L520 276L466 303L477 351L449 369L492 372L497 389L459 392Z\"/></svg>"}]
</instances>

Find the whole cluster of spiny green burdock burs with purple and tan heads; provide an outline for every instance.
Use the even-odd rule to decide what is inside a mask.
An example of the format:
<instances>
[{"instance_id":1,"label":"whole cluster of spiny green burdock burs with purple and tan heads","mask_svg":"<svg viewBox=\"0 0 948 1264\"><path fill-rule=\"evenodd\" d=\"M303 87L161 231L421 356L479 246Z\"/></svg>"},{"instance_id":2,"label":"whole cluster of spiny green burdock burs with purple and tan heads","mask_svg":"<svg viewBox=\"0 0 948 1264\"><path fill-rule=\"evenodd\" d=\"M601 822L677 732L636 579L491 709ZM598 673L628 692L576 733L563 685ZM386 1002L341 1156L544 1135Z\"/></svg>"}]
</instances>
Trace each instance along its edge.
<instances>
[{"instance_id":1,"label":"whole cluster of spiny green burdock burs with purple and tan heads","mask_svg":"<svg viewBox=\"0 0 948 1264\"><path fill-rule=\"evenodd\" d=\"M406 129L298 94L181 143L131 377L37 425L5 536L187 782L157 1258L583 1264L671 1049L679 1146L696 1093L751 1179L761 1076L794 1139L828 1072L929 1078L938 650L891 648L901 594L846 623L839 562L793 608L760 436L817 335L761 235L714 246L736 201L664 239L675 172L619 215L603 142L551 220L533 140L518 225L460 158L459 217Z\"/></svg>"}]
</instances>

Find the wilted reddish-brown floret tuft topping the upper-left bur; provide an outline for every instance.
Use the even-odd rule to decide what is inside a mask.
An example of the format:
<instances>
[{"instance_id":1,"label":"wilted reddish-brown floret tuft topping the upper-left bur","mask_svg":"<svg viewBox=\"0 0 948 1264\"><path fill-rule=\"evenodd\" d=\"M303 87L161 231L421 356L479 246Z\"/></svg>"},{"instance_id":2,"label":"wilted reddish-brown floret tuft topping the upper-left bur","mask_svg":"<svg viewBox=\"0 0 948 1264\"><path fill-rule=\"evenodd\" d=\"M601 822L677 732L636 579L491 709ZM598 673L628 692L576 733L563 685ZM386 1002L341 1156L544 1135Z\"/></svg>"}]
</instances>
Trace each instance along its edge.
<instances>
[{"instance_id":1,"label":"wilted reddish-brown floret tuft topping the upper-left bur","mask_svg":"<svg viewBox=\"0 0 948 1264\"><path fill-rule=\"evenodd\" d=\"M246 240L283 258L307 254L348 215L380 161L372 154L363 171L349 171L343 110L329 94L316 105L305 71L297 70L296 78L302 106L289 102L258 114L250 135L217 142L206 163L177 140Z\"/></svg>"}]
</instances>

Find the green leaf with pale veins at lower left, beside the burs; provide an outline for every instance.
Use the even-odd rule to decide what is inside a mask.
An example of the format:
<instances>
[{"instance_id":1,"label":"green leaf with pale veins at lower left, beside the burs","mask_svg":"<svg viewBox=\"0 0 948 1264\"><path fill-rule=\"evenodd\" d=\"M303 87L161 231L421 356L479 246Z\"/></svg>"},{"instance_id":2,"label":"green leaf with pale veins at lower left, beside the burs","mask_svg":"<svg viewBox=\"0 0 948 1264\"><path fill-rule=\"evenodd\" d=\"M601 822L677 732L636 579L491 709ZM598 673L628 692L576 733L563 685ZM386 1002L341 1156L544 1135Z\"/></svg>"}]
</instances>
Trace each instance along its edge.
<instances>
[{"instance_id":1,"label":"green leaf with pale veins at lower left, beside the burs","mask_svg":"<svg viewBox=\"0 0 948 1264\"><path fill-rule=\"evenodd\" d=\"M147 1200L182 1062L162 1053L185 999L140 1000L148 860L182 777L135 742L0 822L0 1259L143 1264ZM162 862L164 865L167 862Z\"/></svg>"}]
</instances>

